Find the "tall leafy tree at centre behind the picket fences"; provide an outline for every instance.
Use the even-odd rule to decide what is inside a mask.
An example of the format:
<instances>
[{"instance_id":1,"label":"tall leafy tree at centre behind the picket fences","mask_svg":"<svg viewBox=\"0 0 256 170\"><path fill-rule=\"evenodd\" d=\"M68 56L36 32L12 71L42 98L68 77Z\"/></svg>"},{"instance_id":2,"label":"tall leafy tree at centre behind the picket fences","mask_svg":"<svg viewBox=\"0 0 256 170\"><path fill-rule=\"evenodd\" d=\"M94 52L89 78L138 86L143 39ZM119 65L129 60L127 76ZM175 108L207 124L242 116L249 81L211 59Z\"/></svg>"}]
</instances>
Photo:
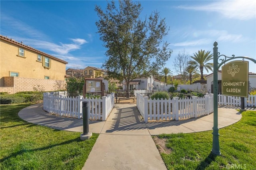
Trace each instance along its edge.
<instances>
[{"instance_id":1,"label":"tall leafy tree at centre behind the picket fences","mask_svg":"<svg viewBox=\"0 0 256 170\"><path fill-rule=\"evenodd\" d=\"M95 8L100 40L107 48L102 67L108 70L108 78L125 80L129 97L130 81L148 77L170 58L169 43L163 42L169 28L158 12L150 14L148 19L140 19L140 2L119 0L119 8L115 2L107 4L106 12L100 6Z\"/></svg>"}]
</instances>

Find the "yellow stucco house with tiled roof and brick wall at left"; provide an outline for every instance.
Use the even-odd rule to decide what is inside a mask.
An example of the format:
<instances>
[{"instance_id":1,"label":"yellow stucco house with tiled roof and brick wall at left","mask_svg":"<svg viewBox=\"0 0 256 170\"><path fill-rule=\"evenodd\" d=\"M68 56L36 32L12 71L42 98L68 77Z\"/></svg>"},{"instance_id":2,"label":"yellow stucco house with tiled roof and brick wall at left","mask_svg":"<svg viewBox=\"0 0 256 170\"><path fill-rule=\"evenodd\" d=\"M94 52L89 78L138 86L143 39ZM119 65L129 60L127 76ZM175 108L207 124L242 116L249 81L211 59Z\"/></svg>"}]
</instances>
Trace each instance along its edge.
<instances>
[{"instance_id":1,"label":"yellow stucco house with tiled roof and brick wall at left","mask_svg":"<svg viewBox=\"0 0 256 170\"><path fill-rule=\"evenodd\" d=\"M0 46L0 92L52 91L66 82L68 62L1 35Z\"/></svg>"}]
</instances>

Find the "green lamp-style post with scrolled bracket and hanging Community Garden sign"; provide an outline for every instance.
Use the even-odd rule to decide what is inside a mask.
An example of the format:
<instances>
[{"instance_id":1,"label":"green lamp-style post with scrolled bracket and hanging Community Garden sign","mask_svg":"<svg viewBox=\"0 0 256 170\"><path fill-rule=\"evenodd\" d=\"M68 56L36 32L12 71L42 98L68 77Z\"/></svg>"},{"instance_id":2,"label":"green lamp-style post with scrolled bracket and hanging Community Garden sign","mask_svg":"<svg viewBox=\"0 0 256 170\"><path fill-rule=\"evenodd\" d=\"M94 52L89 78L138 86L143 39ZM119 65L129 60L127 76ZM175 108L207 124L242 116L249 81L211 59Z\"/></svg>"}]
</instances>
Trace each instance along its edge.
<instances>
[{"instance_id":1,"label":"green lamp-style post with scrolled bracket and hanging Community Garden sign","mask_svg":"<svg viewBox=\"0 0 256 170\"><path fill-rule=\"evenodd\" d=\"M256 60L246 56L220 55L218 43L213 44L213 136L212 153L220 155L219 128L218 128L218 69L221 65L232 59L242 58L243 61L233 61L222 67L222 94L247 97L248 96L248 62L249 59L256 63ZM224 77L223 77L224 76Z\"/></svg>"}]
</instances>

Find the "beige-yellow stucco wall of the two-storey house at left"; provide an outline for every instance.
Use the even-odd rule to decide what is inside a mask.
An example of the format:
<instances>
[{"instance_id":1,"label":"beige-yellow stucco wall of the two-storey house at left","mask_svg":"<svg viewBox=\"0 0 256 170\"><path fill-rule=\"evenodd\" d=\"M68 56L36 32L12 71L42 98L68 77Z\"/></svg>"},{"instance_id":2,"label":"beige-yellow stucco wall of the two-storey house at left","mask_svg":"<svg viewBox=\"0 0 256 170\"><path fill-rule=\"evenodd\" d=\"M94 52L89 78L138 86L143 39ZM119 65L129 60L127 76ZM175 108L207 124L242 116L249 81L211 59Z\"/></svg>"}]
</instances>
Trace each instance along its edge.
<instances>
[{"instance_id":1,"label":"beige-yellow stucco wall of the two-storey house at left","mask_svg":"<svg viewBox=\"0 0 256 170\"><path fill-rule=\"evenodd\" d=\"M66 64L51 58L51 68L44 68L42 62L38 62L37 54L29 49L24 49L24 57L18 57L18 45L1 39L0 42L0 86L3 87L3 77L10 76L10 71L18 72L19 77L65 80Z\"/></svg>"}]
</instances>

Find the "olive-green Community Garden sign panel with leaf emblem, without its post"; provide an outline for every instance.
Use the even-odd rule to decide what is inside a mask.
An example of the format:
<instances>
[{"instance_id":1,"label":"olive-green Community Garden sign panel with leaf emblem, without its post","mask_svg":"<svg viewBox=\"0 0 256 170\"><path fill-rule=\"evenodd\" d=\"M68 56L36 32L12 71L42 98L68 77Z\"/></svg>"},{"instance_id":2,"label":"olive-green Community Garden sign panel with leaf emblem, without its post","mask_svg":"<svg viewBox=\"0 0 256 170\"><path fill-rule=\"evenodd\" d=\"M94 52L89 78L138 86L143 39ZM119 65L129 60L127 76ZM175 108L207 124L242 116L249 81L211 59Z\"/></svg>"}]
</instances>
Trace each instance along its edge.
<instances>
[{"instance_id":1,"label":"olive-green Community Garden sign panel with leaf emblem, without its post","mask_svg":"<svg viewBox=\"0 0 256 170\"><path fill-rule=\"evenodd\" d=\"M248 97L248 61L222 66L222 95Z\"/></svg>"}]
</instances>

